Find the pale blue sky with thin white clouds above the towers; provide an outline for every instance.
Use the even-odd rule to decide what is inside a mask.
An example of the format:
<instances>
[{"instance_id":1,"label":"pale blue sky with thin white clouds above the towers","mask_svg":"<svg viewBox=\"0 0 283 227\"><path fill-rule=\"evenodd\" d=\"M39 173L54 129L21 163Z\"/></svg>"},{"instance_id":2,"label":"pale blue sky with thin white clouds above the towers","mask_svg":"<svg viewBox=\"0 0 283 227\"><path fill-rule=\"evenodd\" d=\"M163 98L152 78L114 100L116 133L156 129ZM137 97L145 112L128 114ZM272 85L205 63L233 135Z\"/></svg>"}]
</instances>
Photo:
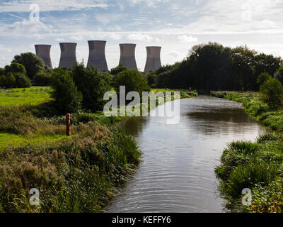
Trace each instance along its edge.
<instances>
[{"instance_id":1,"label":"pale blue sky with thin white clouds above the towers","mask_svg":"<svg viewBox=\"0 0 283 227\"><path fill-rule=\"evenodd\" d=\"M119 63L119 43L136 43L141 71L152 45L162 47L162 65L208 42L283 57L283 0L0 0L0 67L35 53L35 44L52 45L58 67L61 42L78 43L77 60L86 64L88 40L107 40L109 68Z\"/></svg>"}]
</instances>

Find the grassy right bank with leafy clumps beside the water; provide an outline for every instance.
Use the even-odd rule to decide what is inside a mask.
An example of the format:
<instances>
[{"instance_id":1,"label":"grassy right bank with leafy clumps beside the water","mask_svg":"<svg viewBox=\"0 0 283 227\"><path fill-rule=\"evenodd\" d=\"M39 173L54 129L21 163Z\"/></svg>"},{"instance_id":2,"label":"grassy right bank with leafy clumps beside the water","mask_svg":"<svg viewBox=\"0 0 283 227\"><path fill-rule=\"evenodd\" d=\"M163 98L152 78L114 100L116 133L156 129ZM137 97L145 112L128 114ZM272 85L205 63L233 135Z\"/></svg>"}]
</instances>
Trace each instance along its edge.
<instances>
[{"instance_id":1,"label":"grassy right bank with leafy clumps beside the water","mask_svg":"<svg viewBox=\"0 0 283 227\"><path fill-rule=\"evenodd\" d=\"M234 141L221 156L216 175L221 179L221 194L232 211L283 211L283 114L272 110L257 92L212 92L212 96L238 101L246 112L272 129L255 143ZM250 206L243 206L242 190L252 190Z\"/></svg>"}]
</instances>

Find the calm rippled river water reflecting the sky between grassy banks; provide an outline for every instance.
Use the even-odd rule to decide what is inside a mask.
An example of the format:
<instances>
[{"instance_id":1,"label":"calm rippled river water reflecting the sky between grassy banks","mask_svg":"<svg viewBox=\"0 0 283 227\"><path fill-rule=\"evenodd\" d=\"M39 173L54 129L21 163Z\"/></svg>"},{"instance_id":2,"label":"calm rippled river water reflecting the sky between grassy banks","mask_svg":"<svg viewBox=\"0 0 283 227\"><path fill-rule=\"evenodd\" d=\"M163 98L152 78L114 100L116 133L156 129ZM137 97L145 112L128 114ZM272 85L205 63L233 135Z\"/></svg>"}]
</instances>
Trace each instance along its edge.
<instances>
[{"instance_id":1,"label":"calm rippled river water reflecting the sky between grassy banks","mask_svg":"<svg viewBox=\"0 0 283 227\"><path fill-rule=\"evenodd\" d=\"M125 129L137 138L143 162L108 212L224 212L214 174L222 151L233 140L254 141L265 131L241 104L211 96L180 100L178 124L131 118Z\"/></svg>"}]
</instances>

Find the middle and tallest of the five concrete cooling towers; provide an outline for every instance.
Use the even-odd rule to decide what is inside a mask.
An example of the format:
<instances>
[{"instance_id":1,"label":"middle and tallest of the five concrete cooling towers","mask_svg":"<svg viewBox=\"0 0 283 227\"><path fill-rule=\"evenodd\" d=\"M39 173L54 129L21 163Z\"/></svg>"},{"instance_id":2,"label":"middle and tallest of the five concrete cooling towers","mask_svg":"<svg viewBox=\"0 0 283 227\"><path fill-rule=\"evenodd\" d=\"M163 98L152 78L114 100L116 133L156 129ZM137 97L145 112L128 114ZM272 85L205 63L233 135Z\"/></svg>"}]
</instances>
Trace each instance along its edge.
<instances>
[{"instance_id":1,"label":"middle and tallest of the five concrete cooling towers","mask_svg":"<svg viewBox=\"0 0 283 227\"><path fill-rule=\"evenodd\" d=\"M88 41L89 55L88 55L88 67L95 67L98 72L108 72L108 66L105 57L105 45L106 41L91 40Z\"/></svg>"}]
</instances>

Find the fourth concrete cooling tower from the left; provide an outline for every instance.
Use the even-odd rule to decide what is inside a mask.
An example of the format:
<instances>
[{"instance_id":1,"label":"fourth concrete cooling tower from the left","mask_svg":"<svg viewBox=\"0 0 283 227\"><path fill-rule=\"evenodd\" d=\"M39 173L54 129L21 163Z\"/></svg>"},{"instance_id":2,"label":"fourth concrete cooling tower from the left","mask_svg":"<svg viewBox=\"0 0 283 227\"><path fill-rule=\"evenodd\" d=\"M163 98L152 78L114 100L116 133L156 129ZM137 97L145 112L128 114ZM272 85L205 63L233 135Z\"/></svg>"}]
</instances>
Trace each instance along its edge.
<instances>
[{"instance_id":1,"label":"fourth concrete cooling tower from the left","mask_svg":"<svg viewBox=\"0 0 283 227\"><path fill-rule=\"evenodd\" d=\"M137 62L134 57L134 50L136 49L136 44L132 43L122 43L120 44L120 62L119 65L123 64L128 70L137 70Z\"/></svg>"}]
</instances>

